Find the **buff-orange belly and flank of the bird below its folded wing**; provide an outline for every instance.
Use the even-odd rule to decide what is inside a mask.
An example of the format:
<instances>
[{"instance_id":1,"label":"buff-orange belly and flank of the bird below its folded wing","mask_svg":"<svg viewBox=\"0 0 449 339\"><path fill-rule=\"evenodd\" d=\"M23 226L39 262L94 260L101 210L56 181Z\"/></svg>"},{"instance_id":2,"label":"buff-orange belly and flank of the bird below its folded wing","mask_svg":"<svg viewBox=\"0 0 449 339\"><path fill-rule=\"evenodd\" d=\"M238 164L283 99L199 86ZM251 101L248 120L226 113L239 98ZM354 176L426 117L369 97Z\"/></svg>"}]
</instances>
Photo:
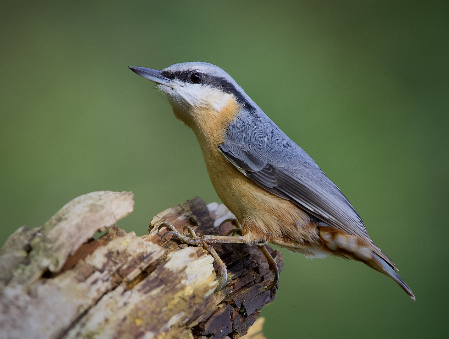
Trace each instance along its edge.
<instances>
[{"instance_id":1,"label":"buff-orange belly and flank of the bird below its folded wing","mask_svg":"<svg viewBox=\"0 0 449 339\"><path fill-rule=\"evenodd\" d=\"M307 213L253 183L216 147L202 148L211 183L242 225L248 243L268 241L307 256L326 256L319 227Z\"/></svg>"}]
</instances>

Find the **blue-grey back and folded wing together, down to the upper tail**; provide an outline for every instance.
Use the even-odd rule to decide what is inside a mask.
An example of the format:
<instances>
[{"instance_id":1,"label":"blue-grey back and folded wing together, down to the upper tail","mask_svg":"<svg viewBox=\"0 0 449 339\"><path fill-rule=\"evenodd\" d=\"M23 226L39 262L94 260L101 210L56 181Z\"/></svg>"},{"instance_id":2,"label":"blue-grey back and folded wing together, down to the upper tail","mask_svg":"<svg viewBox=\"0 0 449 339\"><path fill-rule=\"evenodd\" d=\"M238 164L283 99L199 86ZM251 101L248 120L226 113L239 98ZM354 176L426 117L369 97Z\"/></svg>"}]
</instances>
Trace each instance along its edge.
<instances>
[{"instance_id":1,"label":"blue-grey back and folded wing together, down to the upper tail","mask_svg":"<svg viewBox=\"0 0 449 339\"><path fill-rule=\"evenodd\" d=\"M360 216L339 188L264 113L229 126L227 139L219 149L260 187L291 200L328 225L372 243ZM374 252L395 267L374 243L372 245Z\"/></svg>"}]
</instances>

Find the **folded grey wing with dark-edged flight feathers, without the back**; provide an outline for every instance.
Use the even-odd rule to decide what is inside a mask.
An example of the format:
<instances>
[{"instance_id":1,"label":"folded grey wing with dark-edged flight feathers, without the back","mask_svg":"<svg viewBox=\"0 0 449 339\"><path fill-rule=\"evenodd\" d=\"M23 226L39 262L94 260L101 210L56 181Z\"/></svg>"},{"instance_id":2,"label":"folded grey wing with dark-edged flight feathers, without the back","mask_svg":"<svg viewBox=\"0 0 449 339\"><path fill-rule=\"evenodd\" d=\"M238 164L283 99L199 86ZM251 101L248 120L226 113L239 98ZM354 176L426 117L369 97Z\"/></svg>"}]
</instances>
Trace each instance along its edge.
<instances>
[{"instance_id":1,"label":"folded grey wing with dark-edged flight feathers, without the back","mask_svg":"<svg viewBox=\"0 0 449 339\"><path fill-rule=\"evenodd\" d=\"M260 150L228 140L220 152L252 181L350 235L368 237L359 215L319 168L272 164ZM368 237L369 238L369 237Z\"/></svg>"}]
</instances>

